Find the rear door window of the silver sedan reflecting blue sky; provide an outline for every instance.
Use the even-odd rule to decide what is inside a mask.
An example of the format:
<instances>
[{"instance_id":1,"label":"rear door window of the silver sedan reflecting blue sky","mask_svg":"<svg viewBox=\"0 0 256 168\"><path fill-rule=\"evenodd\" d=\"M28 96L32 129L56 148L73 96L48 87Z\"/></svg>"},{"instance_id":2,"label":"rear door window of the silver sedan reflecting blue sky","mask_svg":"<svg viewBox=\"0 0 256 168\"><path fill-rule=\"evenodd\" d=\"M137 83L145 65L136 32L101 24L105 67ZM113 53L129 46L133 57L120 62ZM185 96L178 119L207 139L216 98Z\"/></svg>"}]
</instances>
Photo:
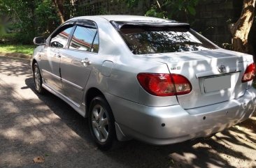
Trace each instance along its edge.
<instances>
[{"instance_id":1,"label":"rear door window of the silver sedan reflecting blue sky","mask_svg":"<svg viewBox=\"0 0 256 168\"><path fill-rule=\"evenodd\" d=\"M96 33L97 29L76 26L69 48L90 52Z\"/></svg>"}]
</instances>

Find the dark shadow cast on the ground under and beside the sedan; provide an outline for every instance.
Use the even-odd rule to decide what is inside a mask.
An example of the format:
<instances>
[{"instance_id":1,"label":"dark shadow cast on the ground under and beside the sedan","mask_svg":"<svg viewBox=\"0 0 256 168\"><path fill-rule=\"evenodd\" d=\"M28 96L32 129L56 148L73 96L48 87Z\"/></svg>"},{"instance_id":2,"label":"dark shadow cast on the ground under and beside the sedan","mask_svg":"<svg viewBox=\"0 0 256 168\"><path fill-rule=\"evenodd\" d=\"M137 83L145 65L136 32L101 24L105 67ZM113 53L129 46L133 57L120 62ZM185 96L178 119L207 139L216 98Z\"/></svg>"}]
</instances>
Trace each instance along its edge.
<instances>
[{"instance_id":1,"label":"dark shadow cast on the ground under and beside the sedan","mask_svg":"<svg viewBox=\"0 0 256 168\"><path fill-rule=\"evenodd\" d=\"M25 79L26 88L34 90L32 77ZM74 109L66 104L63 100L47 92L45 95L39 95L38 98L45 105L52 109L62 122L66 123L79 137L90 144L90 148L99 151L92 141L90 130L87 126L87 120L83 119ZM57 110L56 110L57 109ZM152 146L136 140L129 142L119 142L118 146L111 151L104 151L103 155L110 158L120 167L234 167L225 159L225 157L239 158L241 160L252 161L241 151L230 148L223 142L252 148L252 146L242 143L238 137L231 132L236 131L229 128L222 132L222 137L217 135L210 139L195 139L179 144L168 146ZM246 132L239 132L251 141L255 142ZM101 151L99 151L101 152ZM104 160L104 158L101 158ZM108 165L111 167L111 165Z\"/></svg>"}]
</instances>

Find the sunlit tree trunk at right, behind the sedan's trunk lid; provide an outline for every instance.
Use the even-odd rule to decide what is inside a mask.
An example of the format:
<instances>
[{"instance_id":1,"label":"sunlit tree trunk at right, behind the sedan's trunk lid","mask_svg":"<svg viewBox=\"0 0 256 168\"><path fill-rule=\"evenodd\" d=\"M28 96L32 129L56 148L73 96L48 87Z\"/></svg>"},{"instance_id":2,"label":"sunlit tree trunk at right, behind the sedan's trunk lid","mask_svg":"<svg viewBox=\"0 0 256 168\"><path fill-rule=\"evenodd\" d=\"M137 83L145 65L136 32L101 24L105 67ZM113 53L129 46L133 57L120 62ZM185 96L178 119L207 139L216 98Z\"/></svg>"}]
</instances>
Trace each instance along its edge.
<instances>
[{"instance_id":1,"label":"sunlit tree trunk at right, behind the sedan's trunk lid","mask_svg":"<svg viewBox=\"0 0 256 168\"><path fill-rule=\"evenodd\" d=\"M230 31L233 36L233 49L236 52L252 52L250 51L252 47L248 44L248 34L253 24L255 1L256 0L243 0L243 9L240 18L234 25L230 26Z\"/></svg>"}]
</instances>

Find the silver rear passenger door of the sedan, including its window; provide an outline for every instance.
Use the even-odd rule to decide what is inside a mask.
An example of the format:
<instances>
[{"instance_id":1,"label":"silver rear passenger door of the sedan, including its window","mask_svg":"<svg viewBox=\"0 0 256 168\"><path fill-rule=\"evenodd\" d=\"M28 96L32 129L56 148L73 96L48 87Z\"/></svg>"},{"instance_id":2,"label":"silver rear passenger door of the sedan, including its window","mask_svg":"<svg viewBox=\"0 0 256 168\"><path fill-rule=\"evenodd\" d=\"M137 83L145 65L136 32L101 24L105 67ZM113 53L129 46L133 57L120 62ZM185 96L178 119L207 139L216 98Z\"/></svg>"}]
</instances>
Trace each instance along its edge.
<instances>
[{"instance_id":1,"label":"silver rear passenger door of the sedan, including its window","mask_svg":"<svg viewBox=\"0 0 256 168\"><path fill-rule=\"evenodd\" d=\"M82 101L98 50L96 24L92 21L78 22L69 46L61 53L60 65L64 94L78 105Z\"/></svg>"}]
</instances>

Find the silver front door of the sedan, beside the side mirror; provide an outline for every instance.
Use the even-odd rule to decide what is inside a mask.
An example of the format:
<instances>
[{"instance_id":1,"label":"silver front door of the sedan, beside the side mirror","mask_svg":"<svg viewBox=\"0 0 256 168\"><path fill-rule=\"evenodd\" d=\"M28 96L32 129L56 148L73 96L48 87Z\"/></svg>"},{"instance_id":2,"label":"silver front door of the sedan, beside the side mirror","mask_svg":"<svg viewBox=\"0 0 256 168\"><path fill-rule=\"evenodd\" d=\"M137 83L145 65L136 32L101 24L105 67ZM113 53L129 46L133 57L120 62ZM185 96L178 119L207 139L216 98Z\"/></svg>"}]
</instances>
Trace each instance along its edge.
<instances>
[{"instance_id":1,"label":"silver front door of the sedan, beside the side mirror","mask_svg":"<svg viewBox=\"0 0 256 168\"><path fill-rule=\"evenodd\" d=\"M64 25L57 29L50 36L48 46L43 49L44 55L41 56L41 68L43 79L52 89L62 92L62 80L60 76L59 63L62 52L69 39L69 34L73 29L72 24Z\"/></svg>"}]
</instances>

